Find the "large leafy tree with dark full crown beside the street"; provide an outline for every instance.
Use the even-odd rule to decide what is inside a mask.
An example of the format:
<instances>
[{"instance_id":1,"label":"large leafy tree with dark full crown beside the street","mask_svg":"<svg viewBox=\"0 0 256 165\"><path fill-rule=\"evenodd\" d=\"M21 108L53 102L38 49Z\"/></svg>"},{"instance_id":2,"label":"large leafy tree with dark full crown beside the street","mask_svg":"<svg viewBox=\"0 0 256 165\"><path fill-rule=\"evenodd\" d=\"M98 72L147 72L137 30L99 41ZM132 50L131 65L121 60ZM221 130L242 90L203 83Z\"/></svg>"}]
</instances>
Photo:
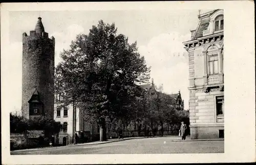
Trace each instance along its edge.
<instances>
[{"instance_id":1,"label":"large leafy tree with dark full crown beside the street","mask_svg":"<svg viewBox=\"0 0 256 165\"><path fill-rule=\"evenodd\" d=\"M79 103L83 114L100 126L105 140L106 119L124 117L131 108L135 84L146 82L150 69L140 57L136 42L117 34L115 24L102 20L88 35L79 34L69 50L61 53L63 62L58 91L66 93L66 103Z\"/></svg>"}]
</instances>

